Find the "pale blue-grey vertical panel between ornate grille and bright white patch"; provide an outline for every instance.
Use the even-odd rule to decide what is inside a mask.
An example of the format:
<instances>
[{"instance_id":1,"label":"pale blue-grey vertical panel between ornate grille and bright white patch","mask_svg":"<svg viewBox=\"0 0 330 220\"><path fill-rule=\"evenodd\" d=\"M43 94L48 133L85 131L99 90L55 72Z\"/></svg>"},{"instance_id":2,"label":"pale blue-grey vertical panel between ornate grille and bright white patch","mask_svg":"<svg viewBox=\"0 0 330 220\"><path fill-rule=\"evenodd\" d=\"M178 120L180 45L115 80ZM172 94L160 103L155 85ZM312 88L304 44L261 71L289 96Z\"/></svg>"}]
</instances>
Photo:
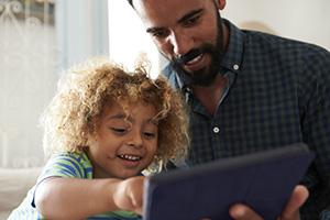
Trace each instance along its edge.
<instances>
[{"instance_id":1,"label":"pale blue-grey vertical panel between ornate grille and bright white patch","mask_svg":"<svg viewBox=\"0 0 330 220\"><path fill-rule=\"evenodd\" d=\"M90 56L109 54L107 1L56 1L56 41L64 55L62 68Z\"/></svg>"}]
</instances>

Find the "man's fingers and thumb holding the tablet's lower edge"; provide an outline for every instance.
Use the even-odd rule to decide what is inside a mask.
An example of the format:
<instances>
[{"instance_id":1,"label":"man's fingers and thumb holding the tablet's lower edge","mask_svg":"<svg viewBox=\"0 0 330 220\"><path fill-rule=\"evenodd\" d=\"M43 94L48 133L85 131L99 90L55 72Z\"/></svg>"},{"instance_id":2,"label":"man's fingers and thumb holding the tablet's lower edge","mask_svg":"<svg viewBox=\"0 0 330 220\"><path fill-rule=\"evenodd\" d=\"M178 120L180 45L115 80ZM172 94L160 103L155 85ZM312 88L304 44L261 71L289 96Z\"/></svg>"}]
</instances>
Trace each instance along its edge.
<instances>
[{"instance_id":1,"label":"man's fingers and thumb holding the tablet's lower edge","mask_svg":"<svg viewBox=\"0 0 330 220\"><path fill-rule=\"evenodd\" d=\"M290 199L282 211L278 220L300 220L299 208L308 198L306 187L298 185L294 189ZM235 204L229 209L229 213L237 220L262 220L262 217L253 211L250 207Z\"/></svg>"}]
</instances>

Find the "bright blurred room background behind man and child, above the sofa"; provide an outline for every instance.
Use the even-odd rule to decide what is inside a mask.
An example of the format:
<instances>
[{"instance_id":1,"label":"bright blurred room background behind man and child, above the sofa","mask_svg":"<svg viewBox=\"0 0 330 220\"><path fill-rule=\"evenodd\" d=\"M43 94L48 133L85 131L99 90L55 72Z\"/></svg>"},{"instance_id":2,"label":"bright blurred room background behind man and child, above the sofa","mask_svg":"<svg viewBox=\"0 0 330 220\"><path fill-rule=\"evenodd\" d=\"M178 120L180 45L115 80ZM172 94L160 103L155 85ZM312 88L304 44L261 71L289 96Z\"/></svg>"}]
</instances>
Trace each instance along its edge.
<instances>
[{"instance_id":1,"label":"bright blurred room background behind man and child, above the sofa","mask_svg":"<svg viewBox=\"0 0 330 220\"><path fill-rule=\"evenodd\" d=\"M223 18L330 51L329 0L228 0ZM140 52L156 77L158 54L125 0L0 0L0 167L42 166L38 118L63 69L109 55L129 69Z\"/></svg>"}]
</instances>

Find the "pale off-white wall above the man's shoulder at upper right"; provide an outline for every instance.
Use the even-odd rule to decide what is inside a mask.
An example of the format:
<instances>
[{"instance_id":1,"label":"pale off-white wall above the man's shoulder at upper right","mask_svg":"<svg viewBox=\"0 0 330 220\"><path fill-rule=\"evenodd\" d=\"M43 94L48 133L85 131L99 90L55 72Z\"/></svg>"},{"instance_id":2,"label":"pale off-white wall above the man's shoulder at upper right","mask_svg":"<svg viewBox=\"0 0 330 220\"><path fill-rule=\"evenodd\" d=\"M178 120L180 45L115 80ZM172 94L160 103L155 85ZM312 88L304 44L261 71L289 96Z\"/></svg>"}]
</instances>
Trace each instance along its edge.
<instances>
[{"instance_id":1,"label":"pale off-white wall above the man's shoulder at upper right","mask_svg":"<svg viewBox=\"0 0 330 220\"><path fill-rule=\"evenodd\" d=\"M223 18L242 28L262 23L274 33L330 51L329 0L228 0Z\"/></svg>"}]
</instances>

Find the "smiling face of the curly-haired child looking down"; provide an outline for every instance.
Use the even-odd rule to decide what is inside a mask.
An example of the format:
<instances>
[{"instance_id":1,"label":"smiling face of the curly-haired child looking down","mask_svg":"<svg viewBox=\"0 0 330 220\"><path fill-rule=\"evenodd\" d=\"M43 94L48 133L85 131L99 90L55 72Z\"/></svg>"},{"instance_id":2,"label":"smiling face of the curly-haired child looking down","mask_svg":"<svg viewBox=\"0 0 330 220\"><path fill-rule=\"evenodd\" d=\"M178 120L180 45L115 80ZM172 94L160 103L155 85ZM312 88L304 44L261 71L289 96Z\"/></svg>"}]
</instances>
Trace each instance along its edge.
<instances>
[{"instance_id":1,"label":"smiling face of the curly-haired child looking down","mask_svg":"<svg viewBox=\"0 0 330 220\"><path fill-rule=\"evenodd\" d=\"M114 103L103 113L99 139L87 152L94 165L95 178L128 178L146 168L156 153L157 122L152 119L156 110L152 105L131 105L131 116Z\"/></svg>"}]
</instances>

